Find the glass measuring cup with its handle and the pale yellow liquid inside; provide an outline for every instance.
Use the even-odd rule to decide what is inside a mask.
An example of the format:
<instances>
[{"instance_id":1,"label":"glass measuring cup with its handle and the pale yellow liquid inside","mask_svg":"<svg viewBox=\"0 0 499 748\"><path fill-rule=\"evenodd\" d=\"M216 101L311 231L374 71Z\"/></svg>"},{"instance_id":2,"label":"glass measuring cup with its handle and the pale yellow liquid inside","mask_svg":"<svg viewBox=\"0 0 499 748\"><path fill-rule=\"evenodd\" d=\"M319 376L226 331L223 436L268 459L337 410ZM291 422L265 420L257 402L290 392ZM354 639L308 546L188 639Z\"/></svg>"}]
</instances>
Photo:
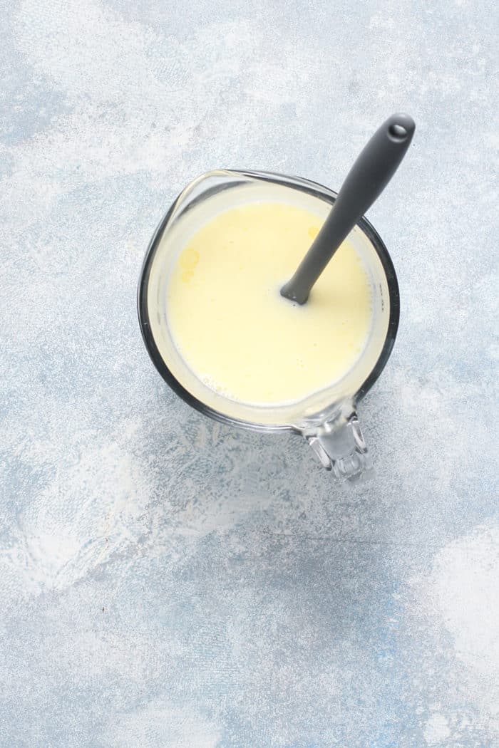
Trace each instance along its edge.
<instances>
[{"instance_id":1,"label":"glass measuring cup with its handle and the pale yellow liquid inside","mask_svg":"<svg viewBox=\"0 0 499 748\"><path fill-rule=\"evenodd\" d=\"M397 333L388 251L359 218L307 304L280 294L327 228L334 199L298 177L199 177L150 242L138 313L156 368L186 402L236 426L297 432L325 468L353 478L370 465L356 404Z\"/></svg>"}]
</instances>

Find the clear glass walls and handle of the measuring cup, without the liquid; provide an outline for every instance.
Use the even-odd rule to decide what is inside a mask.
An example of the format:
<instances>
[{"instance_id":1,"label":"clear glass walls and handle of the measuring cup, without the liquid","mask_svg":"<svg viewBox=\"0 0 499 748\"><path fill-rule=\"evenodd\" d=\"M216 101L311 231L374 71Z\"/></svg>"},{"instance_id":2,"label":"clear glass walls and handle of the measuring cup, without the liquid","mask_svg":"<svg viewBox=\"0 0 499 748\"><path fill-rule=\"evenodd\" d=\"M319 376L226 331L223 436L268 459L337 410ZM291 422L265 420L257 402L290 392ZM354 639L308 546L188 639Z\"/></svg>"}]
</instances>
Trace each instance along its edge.
<instances>
[{"instance_id":1,"label":"clear glass walls and handle of the measuring cup, without the liquid","mask_svg":"<svg viewBox=\"0 0 499 748\"><path fill-rule=\"evenodd\" d=\"M369 221L362 218L349 235L364 263L372 296L364 351L342 378L299 402L251 405L212 390L183 361L171 335L166 305L168 281L180 251L215 215L246 203L275 201L310 209L325 218L335 197L326 187L282 174L220 170L198 177L177 197L147 248L138 283L138 319L156 369L189 405L233 426L296 432L307 440L324 468L338 479L353 479L370 468L356 406L385 367L399 324L394 266Z\"/></svg>"}]
</instances>

